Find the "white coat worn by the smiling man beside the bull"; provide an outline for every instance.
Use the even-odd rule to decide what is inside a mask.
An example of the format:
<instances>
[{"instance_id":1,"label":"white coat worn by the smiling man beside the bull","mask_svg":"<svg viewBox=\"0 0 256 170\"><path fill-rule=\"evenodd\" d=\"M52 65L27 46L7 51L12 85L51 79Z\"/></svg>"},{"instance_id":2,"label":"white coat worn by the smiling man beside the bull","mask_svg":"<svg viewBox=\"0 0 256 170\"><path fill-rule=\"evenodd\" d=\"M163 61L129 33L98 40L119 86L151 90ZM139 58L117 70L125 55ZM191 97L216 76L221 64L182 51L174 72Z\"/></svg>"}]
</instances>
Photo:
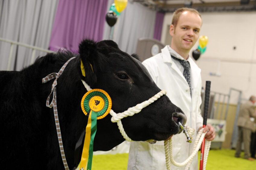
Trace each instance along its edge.
<instances>
[{"instance_id":1,"label":"white coat worn by the smiling man beside the bull","mask_svg":"<svg viewBox=\"0 0 256 170\"><path fill-rule=\"evenodd\" d=\"M191 91L192 99L190 96L189 85L184 78L181 71L171 58L168 46L162 49L159 53L149 59L143 61L143 65L148 69L151 77L156 85L167 91L167 96L172 103L181 108L187 116L186 125L196 131L203 125L203 118L200 113L201 99L201 70L195 62L189 57L191 70ZM160 114L160 113L159 113ZM196 138L196 133L193 139ZM187 138L183 133L174 135L173 142L173 156L176 162L183 162L193 152L193 142L187 143ZM197 170L197 156L195 156L190 170ZM166 169L165 163L165 150L164 142L157 141L155 144L147 142L131 142L128 170L164 170ZM171 169L184 169L184 167L176 167L171 165Z\"/></svg>"}]
</instances>

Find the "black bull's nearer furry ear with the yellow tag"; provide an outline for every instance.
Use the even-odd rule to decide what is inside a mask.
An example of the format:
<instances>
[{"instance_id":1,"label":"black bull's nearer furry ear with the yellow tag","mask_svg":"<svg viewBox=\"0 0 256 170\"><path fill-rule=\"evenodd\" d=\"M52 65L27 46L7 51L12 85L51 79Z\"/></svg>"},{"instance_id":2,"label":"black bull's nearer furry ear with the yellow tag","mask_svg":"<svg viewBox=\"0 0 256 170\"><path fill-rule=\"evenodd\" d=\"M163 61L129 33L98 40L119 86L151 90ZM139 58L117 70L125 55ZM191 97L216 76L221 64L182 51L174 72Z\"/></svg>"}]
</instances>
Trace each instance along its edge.
<instances>
[{"instance_id":1,"label":"black bull's nearer furry ear with the yellow tag","mask_svg":"<svg viewBox=\"0 0 256 170\"><path fill-rule=\"evenodd\" d=\"M99 53L97 44L93 40L84 39L79 44L80 61L78 61L78 70L81 79L89 86L93 86L97 81L97 68Z\"/></svg>"}]
</instances>

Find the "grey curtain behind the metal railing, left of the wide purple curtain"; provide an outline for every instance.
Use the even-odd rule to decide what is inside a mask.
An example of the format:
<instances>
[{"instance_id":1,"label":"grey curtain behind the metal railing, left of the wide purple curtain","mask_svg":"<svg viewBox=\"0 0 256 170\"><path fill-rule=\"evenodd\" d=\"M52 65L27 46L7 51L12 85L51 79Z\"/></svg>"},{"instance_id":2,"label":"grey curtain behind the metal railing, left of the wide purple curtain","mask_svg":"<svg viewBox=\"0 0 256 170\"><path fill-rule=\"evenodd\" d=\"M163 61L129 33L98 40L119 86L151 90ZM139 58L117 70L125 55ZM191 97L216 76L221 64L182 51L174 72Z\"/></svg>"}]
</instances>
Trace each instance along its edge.
<instances>
[{"instance_id":1,"label":"grey curtain behind the metal railing, left of the wide purple curtain","mask_svg":"<svg viewBox=\"0 0 256 170\"><path fill-rule=\"evenodd\" d=\"M47 49L57 5L58 0L0 0L0 37ZM7 69L9 49L0 42L0 70ZM11 70L28 66L31 55L32 49L14 46Z\"/></svg>"}]
</instances>

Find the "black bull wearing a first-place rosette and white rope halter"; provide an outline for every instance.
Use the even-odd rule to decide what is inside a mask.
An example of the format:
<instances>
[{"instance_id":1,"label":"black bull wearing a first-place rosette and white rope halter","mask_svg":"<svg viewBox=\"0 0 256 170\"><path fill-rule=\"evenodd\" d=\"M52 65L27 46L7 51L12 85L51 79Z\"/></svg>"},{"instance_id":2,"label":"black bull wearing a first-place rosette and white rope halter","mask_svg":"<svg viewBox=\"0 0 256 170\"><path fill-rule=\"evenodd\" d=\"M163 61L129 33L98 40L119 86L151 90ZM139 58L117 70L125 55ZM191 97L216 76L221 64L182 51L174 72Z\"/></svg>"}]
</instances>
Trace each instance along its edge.
<instances>
[{"instance_id":1,"label":"black bull wearing a first-place rosette and white rope halter","mask_svg":"<svg viewBox=\"0 0 256 170\"><path fill-rule=\"evenodd\" d=\"M70 169L78 163L74 162L75 145L88 120L81 109L82 96L87 92L81 79L92 89L105 90L116 113L161 91L146 68L113 41L83 40L79 54L69 62L56 86L63 146ZM42 84L42 78L57 73L74 56L71 52L50 53L21 71L0 72L0 169L64 169L53 108L46 107L53 80ZM94 151L110 150L124 141L110 118L109 114L97 121ZM164 95L138 114L123 118L122 123L132 140L166 140L180 131L178 119L183 124L186 121L181 109Z\"/></svg>"}]
</instances>

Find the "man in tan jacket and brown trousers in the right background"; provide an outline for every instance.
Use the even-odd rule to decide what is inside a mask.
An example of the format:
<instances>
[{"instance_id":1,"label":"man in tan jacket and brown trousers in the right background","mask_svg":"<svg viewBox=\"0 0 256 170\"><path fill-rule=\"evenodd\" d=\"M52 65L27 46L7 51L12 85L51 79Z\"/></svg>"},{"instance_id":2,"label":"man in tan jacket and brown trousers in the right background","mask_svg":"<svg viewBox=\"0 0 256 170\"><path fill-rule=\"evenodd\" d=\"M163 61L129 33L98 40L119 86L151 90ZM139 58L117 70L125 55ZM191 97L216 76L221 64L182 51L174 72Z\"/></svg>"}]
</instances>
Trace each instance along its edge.
<instances>
[{"instance_id":1,"label":"man in tan jacket and brown trousers in the right background","mask_svg":"<svg viewBox=\"0 0 256 170\"><path fill-rule=\"evenodd\" d=\"M250 157L250 142L251 131L255 131L255 125L254 122L250 120L250 118L256 118L256 112L254 109L255 101L255 96L251 96L249 101L242 104L237 119L238 141L235 149L235 157L240 157L241 145L242 142L244 142L244 158L250 161L254 160L253 158Z\"/></svg>"}]
</instances>

